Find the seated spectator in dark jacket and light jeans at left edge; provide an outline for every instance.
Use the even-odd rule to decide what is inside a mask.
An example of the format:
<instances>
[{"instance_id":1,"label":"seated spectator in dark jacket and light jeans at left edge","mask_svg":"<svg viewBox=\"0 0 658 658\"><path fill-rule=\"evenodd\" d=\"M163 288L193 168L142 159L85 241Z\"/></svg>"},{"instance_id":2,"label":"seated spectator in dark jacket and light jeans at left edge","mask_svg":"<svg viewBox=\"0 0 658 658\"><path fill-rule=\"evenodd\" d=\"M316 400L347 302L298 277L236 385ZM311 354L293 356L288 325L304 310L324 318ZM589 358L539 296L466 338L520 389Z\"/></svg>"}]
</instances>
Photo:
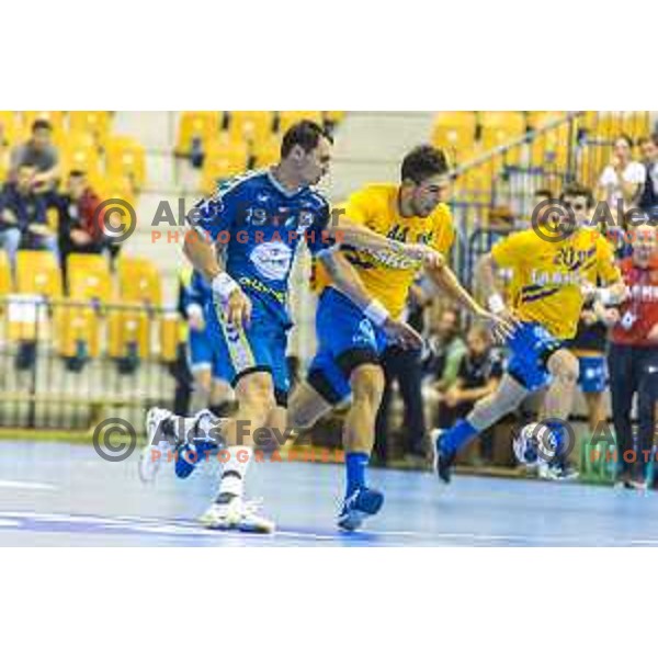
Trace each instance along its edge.
<instances>
[{"instance_id":1,"label":"seated spectator in dark jacket and light jeans at left edge","mask_svg":"<svg viewBox=\"0 0 658 658\"><path fill-rule=\"evenodd\" d=\"M43 195L34 192L34 167L22 166L15 182L4 185L0 195L0 241L12 265L19 247L48 249L58 254L57 237L46 217Z\"/></svg>"}]
</instances>

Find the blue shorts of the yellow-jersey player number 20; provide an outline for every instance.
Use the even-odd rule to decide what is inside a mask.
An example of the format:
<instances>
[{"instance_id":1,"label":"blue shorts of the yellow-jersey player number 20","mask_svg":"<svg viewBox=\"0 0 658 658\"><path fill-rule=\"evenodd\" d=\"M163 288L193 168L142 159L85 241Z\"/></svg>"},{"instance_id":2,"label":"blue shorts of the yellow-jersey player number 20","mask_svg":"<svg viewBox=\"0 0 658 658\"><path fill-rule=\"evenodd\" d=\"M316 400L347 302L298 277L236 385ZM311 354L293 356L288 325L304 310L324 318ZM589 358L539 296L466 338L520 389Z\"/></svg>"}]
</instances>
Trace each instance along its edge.
<instances>
[{"instance_id":1,"label":"blue shorts of the yellow-jersey player number 20","mask_svg":"<svg viewBox=\"0 0 658 658\"><path fill-rule=\"evenodd\" d=\"M522 322L508 339L507 347L510 350L508 374L529 390L538 390L551 383L546 362L564 342L538 322Z\"/></svg>"}]
</instances>

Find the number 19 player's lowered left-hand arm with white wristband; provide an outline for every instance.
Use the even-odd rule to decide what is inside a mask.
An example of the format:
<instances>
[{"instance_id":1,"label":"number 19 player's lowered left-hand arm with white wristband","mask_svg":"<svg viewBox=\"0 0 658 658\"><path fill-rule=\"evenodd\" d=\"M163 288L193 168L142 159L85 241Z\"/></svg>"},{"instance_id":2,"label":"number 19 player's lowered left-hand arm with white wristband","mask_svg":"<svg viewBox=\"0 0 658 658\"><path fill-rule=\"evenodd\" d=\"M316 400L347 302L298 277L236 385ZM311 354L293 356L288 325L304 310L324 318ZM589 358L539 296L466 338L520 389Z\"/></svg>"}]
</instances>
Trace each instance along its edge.
<instances>
[{"instance_id":1,"label":"number 19 player's lowered left-hand arm with white wristband","mask_svg":"<svg viewBox=\"0 0 658 658\"><path fill-rule=\"evenodd\" d=\"M211 284L213 300L220 306L226 320L231 325L248 325L251 319L251 300L237 281L223 270L208 237L196 230L189 231L183 253Z\"/></svg>"}]
</instances>

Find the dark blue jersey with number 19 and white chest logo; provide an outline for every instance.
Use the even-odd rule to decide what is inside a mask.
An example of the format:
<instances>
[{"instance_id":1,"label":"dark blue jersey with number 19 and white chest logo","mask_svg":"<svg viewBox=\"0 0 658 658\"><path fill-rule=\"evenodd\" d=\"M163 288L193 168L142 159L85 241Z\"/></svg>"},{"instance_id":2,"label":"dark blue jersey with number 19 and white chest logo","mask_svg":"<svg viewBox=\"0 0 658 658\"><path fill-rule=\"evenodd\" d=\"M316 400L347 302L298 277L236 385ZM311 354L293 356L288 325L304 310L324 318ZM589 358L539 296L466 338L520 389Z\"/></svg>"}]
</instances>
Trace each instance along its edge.
<instances>
[{"instance_id":1,"label":"dark blue jersey with number 19 and white chest logo","mask_svg":"<svg viewBox=\"0 0 658 658\"><path fill-rule=\"evenodd\" d=\"M253 303L253 320L291 325L288 279L299 241L317 256L332 247L326 232L329 204L309 188L291 192L270 170L219 185L189 216L224 250L226 272Z\"/></svg>"}]
</instances>

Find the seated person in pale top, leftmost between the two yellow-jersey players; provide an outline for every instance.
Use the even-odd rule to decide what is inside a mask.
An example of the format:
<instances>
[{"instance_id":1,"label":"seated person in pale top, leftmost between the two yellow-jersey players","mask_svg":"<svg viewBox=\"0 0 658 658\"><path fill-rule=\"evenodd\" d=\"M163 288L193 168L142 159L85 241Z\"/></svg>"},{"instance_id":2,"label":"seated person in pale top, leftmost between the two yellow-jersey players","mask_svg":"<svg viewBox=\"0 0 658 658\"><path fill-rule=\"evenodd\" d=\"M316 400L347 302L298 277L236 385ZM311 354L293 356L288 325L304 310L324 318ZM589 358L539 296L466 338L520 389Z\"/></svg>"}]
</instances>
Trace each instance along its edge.
<instances>
[{"instance_id":1,"label":"seated person in pale top, leftmost between the two yellow-jersey players","mask_svg":"<svg viewBox=\"0 0 658 658\"><path fill-rule=\"evenodd\" d=\"M433 388L444 393L457 378L462 356L466 353L456 310L445 308L441 313L436 325L430 327L428 347L423 370L432 377Z\"/></svg>"}]
</instances>

